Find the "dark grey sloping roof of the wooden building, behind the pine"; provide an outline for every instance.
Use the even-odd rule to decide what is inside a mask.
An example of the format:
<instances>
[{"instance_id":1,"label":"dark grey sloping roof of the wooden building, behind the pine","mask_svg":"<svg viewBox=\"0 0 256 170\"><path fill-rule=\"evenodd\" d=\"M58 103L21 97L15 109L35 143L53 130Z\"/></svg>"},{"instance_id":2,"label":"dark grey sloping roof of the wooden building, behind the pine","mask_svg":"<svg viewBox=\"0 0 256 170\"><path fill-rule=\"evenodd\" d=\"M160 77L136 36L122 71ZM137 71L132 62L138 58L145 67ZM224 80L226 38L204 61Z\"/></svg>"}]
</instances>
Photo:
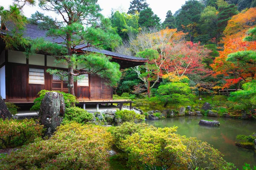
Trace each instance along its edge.
<instances>
[{"instance_id":1,"label":"dark grey sloping roof of the wooden building, behind the pine","mask_svg":"<svg viewBox=\"0 0 256 170\"><path fill-rule=\"evenodd\" d=\"M7 26L8 28L8 26ZM1 31L2 34L5 33L5 31ZM63 42L64 40L60 37L53 39L52 37L47 37L46 36L47 31L46 30L42 30L40 28L38 28L37 25L35 24L27 24L26 25L26 30L24 32L24 36L34 40L36 38L44 38L45 40L49 40L51 42ZM82 47L82 45L77 46L77 48ZM148 59L145 58L139 58L139 57L134 57L134 56L127 56L124 54L119 54L119 53L115 53L112 51L107 51L107 50L102 50L102 49L98 49L98 48L93 48L93 47L89 47L89 48L84 48L84 51L90 51L90 52L97 52L97 53L101 53L101 54L106 54L109 56L113 56L113 57L118 57L119 59L125 59L125 60L132 60L135 62L147 62Z\"/></svg>"}]
</instances>

